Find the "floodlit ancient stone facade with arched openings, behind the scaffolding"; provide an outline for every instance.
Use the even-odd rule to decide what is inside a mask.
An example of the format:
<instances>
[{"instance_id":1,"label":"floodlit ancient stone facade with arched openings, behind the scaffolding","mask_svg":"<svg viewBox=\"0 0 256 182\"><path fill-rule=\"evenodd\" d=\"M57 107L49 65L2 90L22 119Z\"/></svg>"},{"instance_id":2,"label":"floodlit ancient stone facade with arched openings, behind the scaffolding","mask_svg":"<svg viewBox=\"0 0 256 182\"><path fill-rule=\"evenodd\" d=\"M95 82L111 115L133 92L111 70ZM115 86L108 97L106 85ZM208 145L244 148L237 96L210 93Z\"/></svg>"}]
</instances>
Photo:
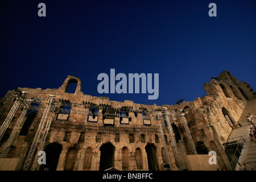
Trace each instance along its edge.
<instances>
[{"instance_id":1,"label":"floodlit ancient stone facade with arched openings, behind the scaffolding","mask_svg":"<svg viewBox=\"0 0 256 182\"><path fill-rule=\"evenodd\" d=\"M77 84L75 93L67 93L71 83ZM177 140L172 140L168 123L161 114L165 107L167 111L176 113L186 110L185 119L197 155L216 151L218 167L228 168L230 160L222 144L226 142L230 132L238 127L237 121L246 102L255 98L255 92L250 85L244 81L239 82L229 71L220 73L217 78L204 84L207 96L175 105L110 101L108 97L86 95L81 89L80 78L68 76L59 89L9 90L0 100L1 126L14 105L14 92L26 92L20 101L32 99L32 102L20 127L16 129L16 134L14 129L24 109L22 104L16 109L4 131L0 140L0 152L6 148L8 152L2 158L16 159L15 170L24 169L25 164L28 165L26 169L31 170L36 164L40 143L44 142L41 150L46 152L46 164L36 164L35 170L98 171L111 167L121 170L188 169L186 159L183 158L184 154L193 155L188 134L182 118L177 117L177 128L173 127L172 130L176 139L180 135L182 143L182 147L176 143L179 162L174 148ZM48 114L48 118L52 115L52 122L45 140L42 141L42 136L46 125L39 132L39 139L35 141L42 117L45 117L49 95L55 96L55 108L49 110ZM224 115L228 115L233 125L230 125ZM46 122L50 120L48 118ZM159 122L163 127L163 137ZM8 146L11 136L15 139ZM35 151L31 152L33 143ZM31 155L30 158L28 155ZM30 163L26 163L28 159ZM166 166L167 163L170 168Z\"/></svg>"}]
</instances>

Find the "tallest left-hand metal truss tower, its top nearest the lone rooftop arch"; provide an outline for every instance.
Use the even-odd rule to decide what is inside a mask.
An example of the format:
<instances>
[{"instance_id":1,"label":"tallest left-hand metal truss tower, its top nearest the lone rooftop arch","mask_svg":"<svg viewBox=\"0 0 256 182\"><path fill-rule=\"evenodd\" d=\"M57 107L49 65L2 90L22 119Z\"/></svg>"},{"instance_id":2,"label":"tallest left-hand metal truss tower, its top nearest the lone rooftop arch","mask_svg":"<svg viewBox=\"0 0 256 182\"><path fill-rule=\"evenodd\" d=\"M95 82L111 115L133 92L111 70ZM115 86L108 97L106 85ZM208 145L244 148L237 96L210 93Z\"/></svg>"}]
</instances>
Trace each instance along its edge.
<instances>
[{"instance_id":1,"label":"tallest left-hand metal truss tower, its top nearest the lone rooftop arch","mask_svg":"<svg viewBox=\"0 0 256 182\"><path fill-rule=\"evenodd\" d=\"M39 123L38 130L36 131L36 134L35 134L35 138L34 138L32 144L31 144L30 151L28 152L27 159L26 159L26 161L24 163L24 166L23 166L23 169L22 169L23 171L28 171L28 169L30 168L31 161L32 161L32 158L33 158L35 150L36 150L36 146L38 145L38 141L39 141L39 138L42 134L44 124L46 123L46 120L47 120L47 117L48 117L48 113L52 109L52 105L53 105L53 102L54 102L54 100L53 100L54 97L55 96L49 95L47 105L46 105L46 109L44 110L43 117L42 117L42 119Z\"/></svg>"}]
</instances>

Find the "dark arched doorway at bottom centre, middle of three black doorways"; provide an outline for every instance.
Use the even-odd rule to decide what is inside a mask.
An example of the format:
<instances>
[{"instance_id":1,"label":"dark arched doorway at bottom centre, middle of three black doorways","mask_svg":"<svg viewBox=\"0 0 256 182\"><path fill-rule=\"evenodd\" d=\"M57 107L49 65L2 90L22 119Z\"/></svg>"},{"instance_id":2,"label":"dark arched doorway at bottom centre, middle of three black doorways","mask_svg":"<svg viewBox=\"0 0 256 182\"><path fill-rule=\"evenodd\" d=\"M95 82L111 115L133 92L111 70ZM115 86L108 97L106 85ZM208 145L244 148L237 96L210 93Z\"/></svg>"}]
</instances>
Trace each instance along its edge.
<instances>
[{"instance_id":1,"label":"dark arched doorway at bottom centre, middle of three black doorways","mask_svg":"<svg viewBox=\"0 0 256 182\"><path fill-rule=\"evenodd\" d=\"M114 167L114 150L115 147L112 143L104 143L100 147L100 171Z\"/></svg>"}]
</instances>

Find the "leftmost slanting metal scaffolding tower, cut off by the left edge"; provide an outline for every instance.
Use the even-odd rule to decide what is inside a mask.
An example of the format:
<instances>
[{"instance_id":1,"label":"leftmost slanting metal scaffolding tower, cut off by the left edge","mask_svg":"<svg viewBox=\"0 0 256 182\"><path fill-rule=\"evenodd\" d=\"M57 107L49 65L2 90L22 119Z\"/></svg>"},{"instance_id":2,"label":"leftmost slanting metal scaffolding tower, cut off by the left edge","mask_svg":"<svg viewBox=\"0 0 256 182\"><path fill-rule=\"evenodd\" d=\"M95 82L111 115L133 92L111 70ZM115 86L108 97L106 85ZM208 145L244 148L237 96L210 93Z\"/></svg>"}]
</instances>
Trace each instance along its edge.
<instances>
[{"instance_id":1,"label":"leftmost slanting metal scaffolding tower, cut off by the left edge","mask_svg":"<svg viewBox=\"0 0 256 182\"><path fill-rule=\"evenodd\" d=\"M10 110L9 114L7 115L5 121L3 122L3 125L0 128L0 140L3 137L3 134L5 134L7 127L9 126L11 120L13 119L13 116L14 116L16 110L18 109L21 100L25 96L26 93L27 92L14 92L13 93L13 96L16 96L15 102L13 104L13 107L11 107L11 110Z\"/></svg>"}]
</instances>

